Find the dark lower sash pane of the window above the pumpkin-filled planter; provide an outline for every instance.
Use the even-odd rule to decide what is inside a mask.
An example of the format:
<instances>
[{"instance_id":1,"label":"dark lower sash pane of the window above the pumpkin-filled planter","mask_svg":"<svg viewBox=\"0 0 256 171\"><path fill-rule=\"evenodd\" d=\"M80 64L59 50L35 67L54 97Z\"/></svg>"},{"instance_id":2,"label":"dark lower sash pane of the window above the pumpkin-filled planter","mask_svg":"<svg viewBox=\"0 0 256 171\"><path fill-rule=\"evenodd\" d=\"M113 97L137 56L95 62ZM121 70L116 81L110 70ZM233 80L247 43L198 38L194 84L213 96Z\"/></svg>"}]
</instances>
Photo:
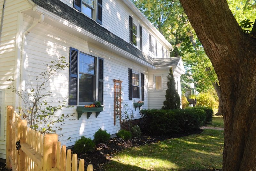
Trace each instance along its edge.
<instances>
[{"instance_id":1,"label":"dark lower sash pane of the window above the pumpkin-filled planter","mask_svg":"<svg viewBox=\"0 0 256 171\"><path fill-rule=\"evenodd\" d=\"M94 101L94 76L79 74L79 103Z\"/></svg>"}]
</instances>

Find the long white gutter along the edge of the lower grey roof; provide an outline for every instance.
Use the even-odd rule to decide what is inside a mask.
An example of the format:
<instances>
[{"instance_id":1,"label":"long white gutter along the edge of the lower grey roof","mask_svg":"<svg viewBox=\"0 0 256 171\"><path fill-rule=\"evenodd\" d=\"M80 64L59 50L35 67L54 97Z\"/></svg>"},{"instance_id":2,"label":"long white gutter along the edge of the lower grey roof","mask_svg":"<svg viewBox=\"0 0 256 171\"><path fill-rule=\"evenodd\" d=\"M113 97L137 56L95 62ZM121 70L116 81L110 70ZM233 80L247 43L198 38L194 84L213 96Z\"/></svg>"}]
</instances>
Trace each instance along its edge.
<instances>
[{"instance_id":1,"label":"long white gutter along the edge of the lower grey roof","mask_svg":"<svg viewBox=\"0 0 256 171\"><path fill-rule=\"evenodd\" d=\"M98 41L98 42L100 42L104 45L107 45L108 47L112 48L113 50L116 50L116 51L124 54L125 56L128 56L129 58L131 58L131 59L133 59L133 60L135 60L135 61L137 61L137 62L139 62L139 63L141 63L145 66L148 66L152 69L156 69L155 66L153 66L151 64L148 64L147 62L143 61L142 59L135 57L134 55L128 53L127 51L124 51L121 48L116 47L115 45L113 45L111 43L108 43L107 41L101 39L100 37L93 35L92 33L84 30L83 28L76 26L75 24L61 18L60 16L58 16L56 14L53 14L52 12L49 12L49 11L45 10L44 8L42 8L40 6L35 6L33 8L33 11L43 13L46 17L49 17L49 18L55 20L56 22L59 22L59 23L65 25L65 26L69 27L69 29L71 29L71 30L75 30L76 32L82 33L83 35L86 35L86 36L88 36L88 37L90 37L90 38L92 38L92 39L94 39L94 40L96 40L96 41Z\"/></svg>"}]
</instances>

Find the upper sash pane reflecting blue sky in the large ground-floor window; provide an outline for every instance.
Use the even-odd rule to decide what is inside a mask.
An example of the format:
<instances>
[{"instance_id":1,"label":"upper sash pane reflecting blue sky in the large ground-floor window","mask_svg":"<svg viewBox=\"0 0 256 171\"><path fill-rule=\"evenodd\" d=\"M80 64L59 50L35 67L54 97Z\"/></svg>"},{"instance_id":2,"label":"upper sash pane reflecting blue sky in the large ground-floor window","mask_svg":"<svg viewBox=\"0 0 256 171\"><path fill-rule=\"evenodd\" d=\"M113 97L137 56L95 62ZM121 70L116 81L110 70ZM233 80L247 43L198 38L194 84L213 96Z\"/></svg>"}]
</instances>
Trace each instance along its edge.
<instances>
[{"instance_id":1,"label":"upper sash pane reflecting blue sky in the large ground-floor window","mask_svg":"<svg viewBox=\"0 0 256 171\"><path fill-rule=\"evenodd\" d=\"M95 58L84 53L80 53L79 73L95 75Z\"/></svg>"}]
</instances>

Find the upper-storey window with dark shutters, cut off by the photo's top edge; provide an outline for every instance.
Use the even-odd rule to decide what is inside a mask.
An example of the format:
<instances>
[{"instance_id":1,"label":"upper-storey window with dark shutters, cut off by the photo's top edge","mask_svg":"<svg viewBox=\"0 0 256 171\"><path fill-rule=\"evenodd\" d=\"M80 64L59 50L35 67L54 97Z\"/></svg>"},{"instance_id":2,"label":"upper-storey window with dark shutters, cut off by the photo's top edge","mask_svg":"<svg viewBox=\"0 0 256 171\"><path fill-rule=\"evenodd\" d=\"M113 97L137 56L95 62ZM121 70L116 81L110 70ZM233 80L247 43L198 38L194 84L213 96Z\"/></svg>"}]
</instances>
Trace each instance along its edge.
<instances>
[{"instance_id":1,"label":"upper-storey window with dark shutters, cut off by the photo's top edge","mask_svg":"<svg viewBox=\"0 0 256 171\"><path fill-rule=\"evenodd\" d=\"M102 24L102 0L74 0L74 8Z\"/></svg>"}]
</instances>

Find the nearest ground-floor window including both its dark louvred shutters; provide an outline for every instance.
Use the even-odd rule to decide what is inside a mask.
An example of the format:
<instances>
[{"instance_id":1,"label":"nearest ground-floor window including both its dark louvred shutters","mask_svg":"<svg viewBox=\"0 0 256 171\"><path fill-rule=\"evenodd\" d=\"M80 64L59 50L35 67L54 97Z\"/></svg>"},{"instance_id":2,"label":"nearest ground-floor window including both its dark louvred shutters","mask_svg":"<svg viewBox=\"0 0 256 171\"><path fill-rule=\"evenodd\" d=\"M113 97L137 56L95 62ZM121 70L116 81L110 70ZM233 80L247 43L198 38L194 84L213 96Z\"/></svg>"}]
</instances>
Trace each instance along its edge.
<instances>
[{"instance_id":1,"label":"nearest ground-floor window including both its dark louvred shutters","mask_svg":"<svg viewBox=\"0 0 256 171\"><path fill-rule=\"evenodd\" d=\"M103 104L103 59L70 47L69 63L69 105Z\"/></svg>"}]
</instances>

